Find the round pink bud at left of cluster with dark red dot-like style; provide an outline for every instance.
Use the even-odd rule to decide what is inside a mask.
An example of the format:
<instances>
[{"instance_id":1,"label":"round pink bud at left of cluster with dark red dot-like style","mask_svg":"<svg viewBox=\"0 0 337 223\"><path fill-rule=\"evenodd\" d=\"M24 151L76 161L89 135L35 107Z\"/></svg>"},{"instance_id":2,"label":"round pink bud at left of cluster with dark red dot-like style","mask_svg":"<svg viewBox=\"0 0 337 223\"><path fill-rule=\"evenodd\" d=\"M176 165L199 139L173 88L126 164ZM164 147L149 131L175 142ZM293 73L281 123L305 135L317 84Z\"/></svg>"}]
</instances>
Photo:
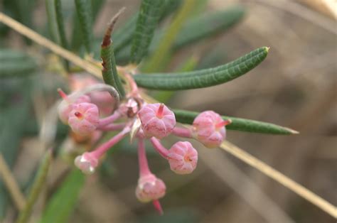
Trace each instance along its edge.
<instances>
[{"instance_id":1,"label":"round pink bud at left of cluster with dark red dot-like style","mask_svg":"<svg viewBox=\"0 0 337 223\"><path fill-rule=\"evenodd\" d=\"M92 103L73 104L68 123L75 132L81 136L91 134L100 123L98 108Z\"/></svg>"}]
</instances>

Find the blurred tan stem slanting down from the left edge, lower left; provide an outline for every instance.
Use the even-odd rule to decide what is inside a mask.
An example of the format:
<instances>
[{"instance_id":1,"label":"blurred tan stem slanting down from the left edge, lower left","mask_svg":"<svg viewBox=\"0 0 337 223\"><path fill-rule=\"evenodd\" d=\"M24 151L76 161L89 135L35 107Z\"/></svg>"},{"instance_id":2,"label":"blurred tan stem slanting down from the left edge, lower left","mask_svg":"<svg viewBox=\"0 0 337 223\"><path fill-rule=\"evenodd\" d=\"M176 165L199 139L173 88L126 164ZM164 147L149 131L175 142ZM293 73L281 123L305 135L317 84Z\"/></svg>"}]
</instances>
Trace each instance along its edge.
<instances>
[{"instance_id":1,"label":"blurred tan stem slanting down from the left edge, lower left","mask_svg":"<svg viewBox=\"0 0 337 223\"><path fill-rule=\"evenodd\" d=\"M23 196L20 187L18 187L18 183L16 183L14 176L11 174L11 170L6 164L4 156L2 156L1 152L0 152L0 177L4 180L6 188L11 194L14 204L16 205L18 210L23 210L23 208L26 205L26 198Z\"/></svg>"}]
</instances>

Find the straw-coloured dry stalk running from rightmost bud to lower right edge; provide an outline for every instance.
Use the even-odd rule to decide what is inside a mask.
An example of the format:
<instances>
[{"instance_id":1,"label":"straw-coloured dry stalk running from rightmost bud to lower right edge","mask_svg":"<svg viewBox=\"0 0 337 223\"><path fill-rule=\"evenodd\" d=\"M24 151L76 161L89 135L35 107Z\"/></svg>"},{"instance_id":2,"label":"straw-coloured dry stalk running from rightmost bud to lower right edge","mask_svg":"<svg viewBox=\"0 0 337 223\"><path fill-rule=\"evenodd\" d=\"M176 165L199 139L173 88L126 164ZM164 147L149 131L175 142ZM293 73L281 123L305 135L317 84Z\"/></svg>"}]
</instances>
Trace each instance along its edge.
<instances>
[{"instance_id":1,"label":"straw-coloured dry stalk running from rightmost bud to lower right edge","mask_svg":"<svg viewBox=\"0 0 337 223\"><path fill-rule=\"evenodd\" d=\"M331 205L331 203L327 202L326 200L323 200L323 198L314 194L314 192L311 192L310 190L306 189L306 187L303 187L302 185L299 185L299 183L294 182L294 180L291 180L286 175L280 173L279 171L275 170L266 163L263 163L262 161L250 155L249 153L246 153L241 148L233 145L228 141L223 142L220 148L232 154L232 156L239 158L241 161L244 161L248 165L251 165L253 168L260 170L262 173L269 176L269 178L276 180L278 183L284 185L284 187L287 187L289 190L292 190L297 195L303 197L312 204L321 208L321 210L325 211L331 216L335 218L337 217L337 207Z\"/></svg>"}]
</instances>

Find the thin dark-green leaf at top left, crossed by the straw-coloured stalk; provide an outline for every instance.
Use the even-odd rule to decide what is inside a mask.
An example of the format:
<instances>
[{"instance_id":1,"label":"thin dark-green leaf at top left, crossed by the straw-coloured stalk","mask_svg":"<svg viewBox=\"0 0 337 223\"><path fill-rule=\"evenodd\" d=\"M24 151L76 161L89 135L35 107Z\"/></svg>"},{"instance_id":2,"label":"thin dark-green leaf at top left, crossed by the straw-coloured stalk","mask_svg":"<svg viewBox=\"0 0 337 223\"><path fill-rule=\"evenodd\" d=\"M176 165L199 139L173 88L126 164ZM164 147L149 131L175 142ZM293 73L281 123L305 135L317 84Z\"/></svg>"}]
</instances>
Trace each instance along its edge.
<instances>
[{"instance_id":1,"label":"thin dark-green leaf at top left, crossed by the straw-coloured stalk","mask_svg":"<svg viewBox=\"0 0 337 223\"><path fill-rule=\"evenodd\" d=\"M68 49L68 41L67 38L65 37L65 26L63 22L61 0L54 0L54 4L55 4L56 23L58 25L58 36L60 36L60 44L63 48ZM64 60L64 63L67 70L69 70L68 60Z\"/></svg>"}]
</instances>

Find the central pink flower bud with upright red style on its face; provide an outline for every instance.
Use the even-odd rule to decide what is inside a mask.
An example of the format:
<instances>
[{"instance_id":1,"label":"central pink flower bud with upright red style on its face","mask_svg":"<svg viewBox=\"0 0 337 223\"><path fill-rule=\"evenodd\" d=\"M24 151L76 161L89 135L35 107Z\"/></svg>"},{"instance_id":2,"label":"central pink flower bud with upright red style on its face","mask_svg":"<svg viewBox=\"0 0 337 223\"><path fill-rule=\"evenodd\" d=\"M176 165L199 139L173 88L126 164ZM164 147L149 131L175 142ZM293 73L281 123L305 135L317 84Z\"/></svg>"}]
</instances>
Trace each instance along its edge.
<instances>
[{"instance_id":1,"label":"central pink flower bud with upright red style on its face","mask_svg":"<svg viewBox=\"0 0 337 223\"><path fill-rule=\"evenodd\" d=\"M138 112L141 127L147 137L164 138L176 126L176 117L164 104L146 104Z\"/></svg>"}]
</instances>

